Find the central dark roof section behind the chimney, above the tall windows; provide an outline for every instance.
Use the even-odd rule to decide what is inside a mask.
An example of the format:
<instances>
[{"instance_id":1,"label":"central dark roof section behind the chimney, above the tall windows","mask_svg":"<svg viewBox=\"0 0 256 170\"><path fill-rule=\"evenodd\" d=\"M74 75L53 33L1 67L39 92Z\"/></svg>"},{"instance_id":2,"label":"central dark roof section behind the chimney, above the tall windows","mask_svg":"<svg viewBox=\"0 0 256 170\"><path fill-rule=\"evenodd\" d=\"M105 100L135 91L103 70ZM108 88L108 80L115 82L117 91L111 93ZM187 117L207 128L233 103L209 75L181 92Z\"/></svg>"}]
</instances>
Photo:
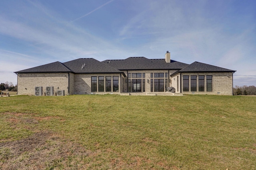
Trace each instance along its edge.
<instances>
[{"instance_id":1,"label":"central dark roof section behind the chimney, above the tall windows","mask_svg":"<svg viewBox=\"0 0 256 170\"><path fill-rule=\"evenodd\" d=\"M118 70L179 70L188 66L188 64L174 60L166 63L165 59L148 59L145 57L129 57L124 60L105 60L102 62Z\"/></svg>"}]
</instances>

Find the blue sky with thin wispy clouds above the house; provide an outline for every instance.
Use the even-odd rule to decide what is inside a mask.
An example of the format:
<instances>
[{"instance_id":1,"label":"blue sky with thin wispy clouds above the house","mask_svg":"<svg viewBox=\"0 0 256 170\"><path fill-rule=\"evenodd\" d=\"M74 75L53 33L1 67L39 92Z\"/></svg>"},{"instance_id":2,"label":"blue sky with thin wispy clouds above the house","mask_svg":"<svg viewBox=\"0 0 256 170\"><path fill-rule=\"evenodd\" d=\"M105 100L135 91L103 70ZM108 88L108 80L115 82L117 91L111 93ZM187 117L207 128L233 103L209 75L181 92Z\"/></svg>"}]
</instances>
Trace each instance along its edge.
<instances>
[{"instance_id":1,"label":"blue sky with thin wispy clouds above the house","mask_svg":"<svg viewBox=\"0 0 256 170\"><path fill-rule=\"evenodd\" d=\"M255 0L6 0L0 83L13 72L77 58L164 58L220 66L256 86Z\"/></svg>"}]
</instances>

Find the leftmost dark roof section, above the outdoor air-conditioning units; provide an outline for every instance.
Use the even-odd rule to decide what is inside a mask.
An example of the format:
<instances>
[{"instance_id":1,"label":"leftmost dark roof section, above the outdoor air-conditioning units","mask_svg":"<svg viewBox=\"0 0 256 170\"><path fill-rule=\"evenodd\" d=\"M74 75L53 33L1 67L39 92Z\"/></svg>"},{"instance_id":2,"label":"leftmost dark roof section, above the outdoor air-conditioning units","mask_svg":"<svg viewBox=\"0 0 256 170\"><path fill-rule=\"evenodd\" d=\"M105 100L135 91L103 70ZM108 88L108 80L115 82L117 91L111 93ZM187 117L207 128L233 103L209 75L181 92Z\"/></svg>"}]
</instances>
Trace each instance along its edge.
<instances>
[{"instance_id":1,"label":"leftmost dark roof section, above the outdoor air-conditioning units","mask_svg":"<svg viewBox=\"0 0 256 170\"><path fill-rule=\"evenodd\" d=\"M47 72L71 72L66 66L61 62L52 62L49 64L44 64L42 66L37 66L33 68L28 68L26 70L21 70L15 73L47 73Z\"/></svg>"}]
</instances>

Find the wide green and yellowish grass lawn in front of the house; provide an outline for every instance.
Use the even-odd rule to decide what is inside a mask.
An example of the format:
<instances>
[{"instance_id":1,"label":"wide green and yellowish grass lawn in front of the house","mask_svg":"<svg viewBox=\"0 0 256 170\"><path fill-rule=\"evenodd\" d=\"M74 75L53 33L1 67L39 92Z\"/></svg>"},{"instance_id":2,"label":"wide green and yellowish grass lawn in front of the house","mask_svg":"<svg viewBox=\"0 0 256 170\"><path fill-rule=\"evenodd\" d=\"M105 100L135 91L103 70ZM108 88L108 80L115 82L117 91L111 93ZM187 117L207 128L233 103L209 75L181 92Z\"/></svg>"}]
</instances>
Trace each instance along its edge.
<instances>
[{"instance_id":1,"label":"wide green and yellowish grass lawn in front of the house","mask_svg":"<svg viewBox=\"0 0 256 170\"><path fill-rule=\"evenodd\" d=\"M0 169L256 169L256 97L0 98Z\"/></svg>"}]
</instances>

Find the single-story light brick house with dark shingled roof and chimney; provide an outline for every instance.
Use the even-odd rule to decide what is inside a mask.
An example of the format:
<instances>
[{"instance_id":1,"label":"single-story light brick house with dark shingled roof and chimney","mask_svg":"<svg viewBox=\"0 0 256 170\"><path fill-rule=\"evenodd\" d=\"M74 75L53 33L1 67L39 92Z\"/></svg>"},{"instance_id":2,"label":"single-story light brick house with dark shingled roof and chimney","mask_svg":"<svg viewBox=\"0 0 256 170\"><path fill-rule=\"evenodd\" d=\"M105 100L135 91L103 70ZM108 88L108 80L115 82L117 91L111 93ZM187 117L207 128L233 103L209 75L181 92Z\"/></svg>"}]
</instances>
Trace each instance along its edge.
<instances>
[{"instance_id":1,"label":"single-story light brick house with dark shingled roof and chimney","mask_svg":"<svg viewBox=\"0 0 256 170\"><path fill-rule=\"evenodd\" d=\"M14 72L18 95L68 94L233 94L234 70L201 62L129 57L123 60L79 58Z\"/></svg>"}]
</instances>

